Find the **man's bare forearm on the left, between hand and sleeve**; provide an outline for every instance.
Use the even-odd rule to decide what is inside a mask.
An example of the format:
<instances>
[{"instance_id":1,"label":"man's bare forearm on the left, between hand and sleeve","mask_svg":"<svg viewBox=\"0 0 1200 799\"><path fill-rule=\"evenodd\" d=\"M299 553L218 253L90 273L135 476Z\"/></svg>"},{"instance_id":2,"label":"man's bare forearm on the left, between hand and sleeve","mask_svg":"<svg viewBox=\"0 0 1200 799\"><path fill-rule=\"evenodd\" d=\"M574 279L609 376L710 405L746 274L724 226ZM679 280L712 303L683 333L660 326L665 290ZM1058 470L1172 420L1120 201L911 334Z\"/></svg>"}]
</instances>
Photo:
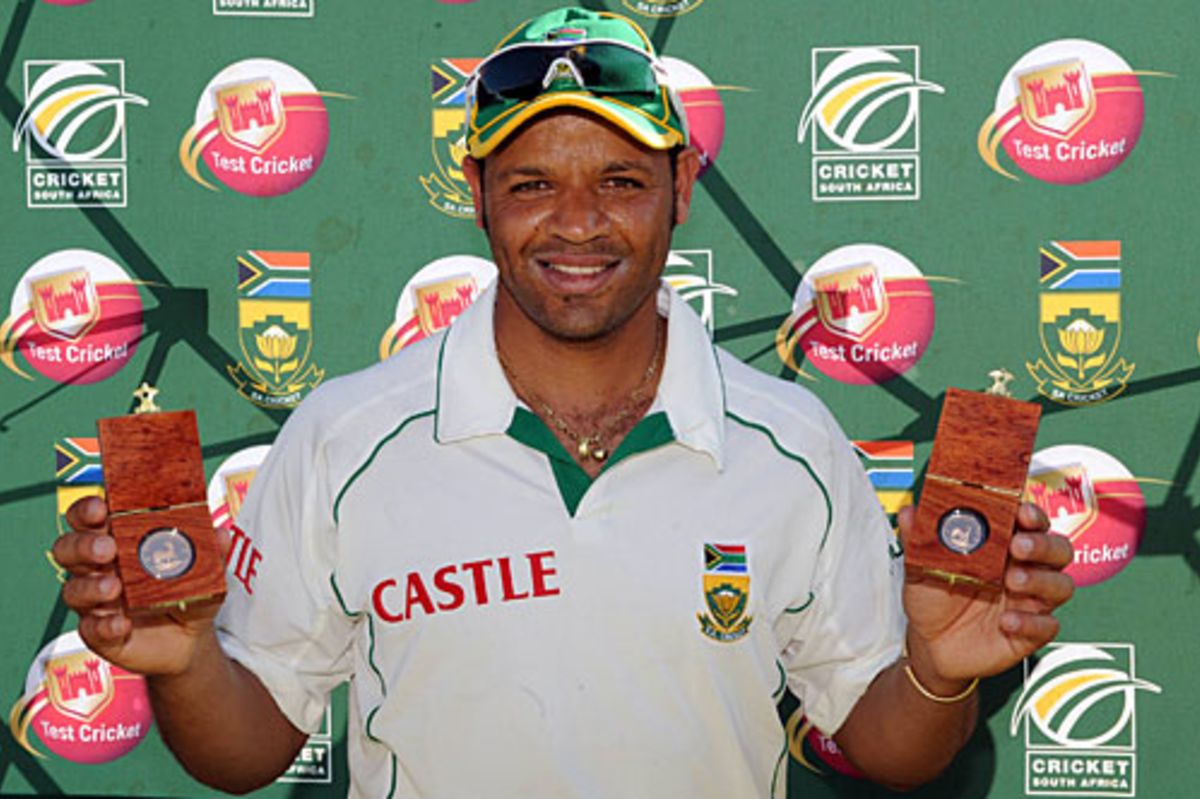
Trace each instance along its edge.
<instances>
[{"instance_id":1,"label":"man's bare forearm on the left, between hand and sleeve","mask_svg":"<svg viewBox=\"0 0 1200 799\"><path fill-rule=\"evenodd\" d=\"M150 677L148 684L167 746L188 774L211 787L245 793L269 783L307 738L211 632L187 671Z\"/></svg>"}]
</instances>

